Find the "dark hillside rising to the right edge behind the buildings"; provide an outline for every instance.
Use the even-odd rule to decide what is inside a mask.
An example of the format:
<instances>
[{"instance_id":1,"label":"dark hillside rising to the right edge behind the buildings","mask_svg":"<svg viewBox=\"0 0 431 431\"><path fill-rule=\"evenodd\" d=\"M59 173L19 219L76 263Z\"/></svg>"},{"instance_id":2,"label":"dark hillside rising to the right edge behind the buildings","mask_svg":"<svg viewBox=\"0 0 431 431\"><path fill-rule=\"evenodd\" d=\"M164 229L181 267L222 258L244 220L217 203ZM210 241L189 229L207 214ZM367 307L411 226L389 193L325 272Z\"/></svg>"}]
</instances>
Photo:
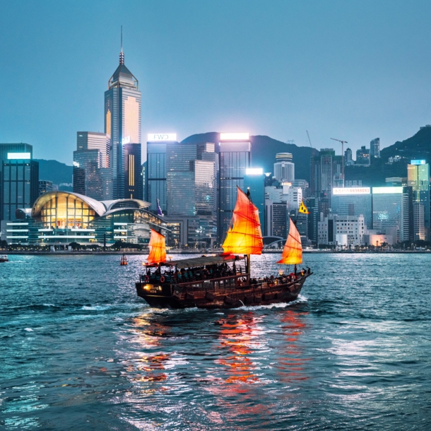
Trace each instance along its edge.
<instances>
[{"instance_id":1,"label":"dark hillside rising to the right edge behind the buildings","mask_svg":"<svg viewBox=\"0 0 431 431\"><path fill-rule=\"evenodd\" d=\"M389 165L388 159L395 156L401 160ZM423 127L411 138L383 148L380 158L372 159L370 167L346 166L346 180L361 179L364 186L384 186L386 178L407 177L408 163L418 159L431 163L431 127Z\"/></svg>"}]
</instances>

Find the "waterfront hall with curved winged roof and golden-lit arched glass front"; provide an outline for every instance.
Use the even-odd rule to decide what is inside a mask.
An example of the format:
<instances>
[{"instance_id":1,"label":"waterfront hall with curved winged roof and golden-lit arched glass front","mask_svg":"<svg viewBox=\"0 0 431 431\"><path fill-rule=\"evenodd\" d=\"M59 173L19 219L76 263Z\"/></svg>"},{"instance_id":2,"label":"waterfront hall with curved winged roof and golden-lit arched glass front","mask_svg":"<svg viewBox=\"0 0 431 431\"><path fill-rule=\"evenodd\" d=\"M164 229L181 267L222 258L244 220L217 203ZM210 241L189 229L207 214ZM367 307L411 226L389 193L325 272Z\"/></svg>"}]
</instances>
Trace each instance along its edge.
<instances>
[{"instance_id":1,"label":"waterfront hall with curved winged roof and golden-lit arched glass front","mask_svg":"<svg viewBox=\"0 0 431 431\"><path fill-rule=\"evenodd\" d=\"M40 196L31 211L16 212L2 228L2 239L24 244L114 244L117 241L146 244L150 228L165 223L139 199L96 201L67 191Z\"/></svg>"}]
</instances>

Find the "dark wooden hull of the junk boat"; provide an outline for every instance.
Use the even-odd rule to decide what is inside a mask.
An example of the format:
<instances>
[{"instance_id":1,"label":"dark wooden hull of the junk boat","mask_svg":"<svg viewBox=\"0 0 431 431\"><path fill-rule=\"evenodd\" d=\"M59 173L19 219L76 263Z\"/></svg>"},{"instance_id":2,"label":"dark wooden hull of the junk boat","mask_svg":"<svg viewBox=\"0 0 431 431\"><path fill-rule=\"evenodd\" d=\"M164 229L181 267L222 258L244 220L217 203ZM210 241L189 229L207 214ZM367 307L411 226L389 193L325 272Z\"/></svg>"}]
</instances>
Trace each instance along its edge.
<instances>
[{"instance_id":1,"label":"dark wooden hull of the junk boat","mask_svg":"<svg viewBox=\"0 0 431 431\"><path fill-rule=\"evenodd\" d=\"M229 309L295 301L311 273L290 283L262 283L220 290L188 290L181 285L136 283L136 293L155 308Z\"/></svg>"}]
</instances>

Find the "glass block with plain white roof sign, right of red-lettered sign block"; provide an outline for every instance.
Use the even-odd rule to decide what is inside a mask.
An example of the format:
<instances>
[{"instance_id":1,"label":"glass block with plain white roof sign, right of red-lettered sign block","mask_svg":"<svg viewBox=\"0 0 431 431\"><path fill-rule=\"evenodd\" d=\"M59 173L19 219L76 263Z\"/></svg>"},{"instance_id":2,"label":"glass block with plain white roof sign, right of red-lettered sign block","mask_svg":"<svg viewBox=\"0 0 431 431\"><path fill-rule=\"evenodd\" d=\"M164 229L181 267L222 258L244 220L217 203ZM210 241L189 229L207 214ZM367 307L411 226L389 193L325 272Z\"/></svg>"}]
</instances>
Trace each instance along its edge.
<instances>
[{"instance_id":1,"label":"glass block with plain white roof sign, right of red-lettered sign block","mask_svg":"<svg viewBox=\"0 0 431 431\"><path fill-rule=\"evenodd\" d=\"M398 242L409 240L409 193L407 187L372 187L372 228L389 233L396 228Z\"/></svg>"}]
</instances>

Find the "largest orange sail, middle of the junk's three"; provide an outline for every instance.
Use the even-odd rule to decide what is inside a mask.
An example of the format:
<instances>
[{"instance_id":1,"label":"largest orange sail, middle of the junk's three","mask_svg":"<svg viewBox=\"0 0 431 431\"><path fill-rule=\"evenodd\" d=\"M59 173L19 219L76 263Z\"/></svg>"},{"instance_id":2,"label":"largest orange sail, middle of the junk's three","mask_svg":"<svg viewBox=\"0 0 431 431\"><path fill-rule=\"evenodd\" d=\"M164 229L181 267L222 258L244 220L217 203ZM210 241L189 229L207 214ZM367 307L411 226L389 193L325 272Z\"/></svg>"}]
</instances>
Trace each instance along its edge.
<instances>
[{"instance_id":1,"label":"largest orange sail, middle of the junk's three","mask_svg":"<svg viewBox=\"0 0 431 431\"><path fill-rule=\"evenodd\" d=\"M238 187L237 203L233 210L233 226L229 228L223 254L261 254L262 240L259 210Z\"/></svg>"}]
</instances>

